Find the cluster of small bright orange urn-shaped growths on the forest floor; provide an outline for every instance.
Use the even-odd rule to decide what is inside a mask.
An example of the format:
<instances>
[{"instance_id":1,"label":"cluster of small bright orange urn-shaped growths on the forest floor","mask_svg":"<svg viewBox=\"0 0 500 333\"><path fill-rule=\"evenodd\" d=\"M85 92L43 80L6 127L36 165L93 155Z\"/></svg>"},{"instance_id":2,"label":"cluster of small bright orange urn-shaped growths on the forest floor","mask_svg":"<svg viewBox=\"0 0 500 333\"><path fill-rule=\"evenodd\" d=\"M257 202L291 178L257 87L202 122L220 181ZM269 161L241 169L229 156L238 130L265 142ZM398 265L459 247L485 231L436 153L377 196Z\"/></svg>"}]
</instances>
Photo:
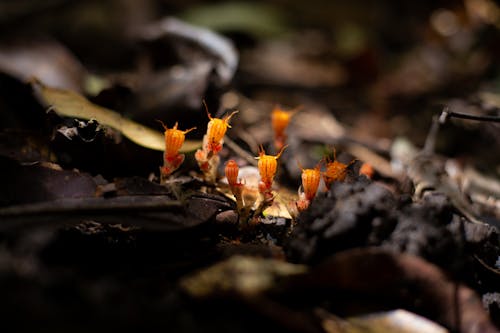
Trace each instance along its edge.
<instances>
[{"instance_id":1,"label":"cluster of small bright orange urn-shaped growths on the forest floor","mask_svg":"<svg viewBox=\"0 0 500 333\"><path fill-rule=\"evenodd\" d=\"M198 162L200 170L203 172L205 181L215 183L217 180L217 168L220 162L218 154L224 143L224 135L227 129L231 128L229 121L238 111L233 111L223 118L215 118L208 112L206 104L205 109L209 122L206 134L203 137L203 145L201 149L196 151L195 159ZM242 220L246 221L248 219L252 209L255 214L260 214L266 207L273 204L275 197L273 182L278 171L278 160L287 147L286 129L297 110L296 108L286 111L279 107L273 109L271 124L274 132L274 145L278 153L276 155L268 155L264 148L260 147L259 154L255 157L258 160L257 167L260 180L255 187L246 185L244 180L240 179L240 169L235 160L228 160L226 162L224 172L229 189L236 200L240 223ZM179 154L179 149L184 143L185 135L194 130L194 128L183 131L178 129L177 123L175 123L173 128L168 128L163 123L162 125L165 129L165 154L163 166L160 170L161 179L164 182L164 179L177 170L184 161L184 155ZM323 179L326 189L330 189L335 181L344 181L348 168L356 160L348 164L339 162L334 149L333 159L326 158L324 161L326 162L324 171L321 170L323 160L318 162L314 168L304 169L301 167L302 185L299 187L298 200L294 202L296 210L303 211L309 207L318 192L321 179ZM257 200L259 196L260 200ZM258 202L258 205L254 207L256 202Z\"/></svg>"}]
</instances>

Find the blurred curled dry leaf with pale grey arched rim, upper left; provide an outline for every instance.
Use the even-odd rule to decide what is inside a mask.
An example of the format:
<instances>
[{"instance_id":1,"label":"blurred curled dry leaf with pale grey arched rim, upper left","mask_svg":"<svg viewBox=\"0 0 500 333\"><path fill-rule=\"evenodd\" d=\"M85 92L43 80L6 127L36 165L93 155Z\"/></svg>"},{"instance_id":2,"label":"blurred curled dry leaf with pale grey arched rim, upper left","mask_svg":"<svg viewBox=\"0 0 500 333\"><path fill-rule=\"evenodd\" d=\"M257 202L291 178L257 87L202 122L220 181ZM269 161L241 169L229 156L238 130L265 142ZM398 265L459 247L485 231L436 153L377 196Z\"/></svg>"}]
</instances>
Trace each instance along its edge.
<instances>
[{"instance_id":1,"label":"blurred curled dry leaf with pale grey arched rim, upper left","mask_svg":"<svg viewBox=\"0 0 500 333\"><path fill-rule=\"evenodd\" d=\"M233 43L209 29L165 17L138 28L135 37L145 60L133 84L142 116L169 107L198 110L200 101L226 87L236 72Z\"/></svg>"}]
</instances>

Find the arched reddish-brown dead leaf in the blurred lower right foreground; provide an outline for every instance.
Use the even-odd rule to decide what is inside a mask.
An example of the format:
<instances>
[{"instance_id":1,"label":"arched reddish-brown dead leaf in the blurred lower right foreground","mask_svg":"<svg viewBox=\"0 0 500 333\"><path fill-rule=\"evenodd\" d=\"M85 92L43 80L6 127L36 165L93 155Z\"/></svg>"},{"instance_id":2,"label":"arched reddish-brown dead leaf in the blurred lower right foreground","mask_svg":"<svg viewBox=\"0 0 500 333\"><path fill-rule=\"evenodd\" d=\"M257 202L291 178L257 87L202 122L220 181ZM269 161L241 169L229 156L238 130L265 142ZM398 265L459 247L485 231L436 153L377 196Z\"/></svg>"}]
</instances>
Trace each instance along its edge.
<instances>
[{"instance_id":1,"label":"arched reddish-brown dead leaf in the blurred lower right foreground","mask_svg":"<svg viewBox=\"0 0 500 333\"><path fill-rule=\"evenodd\" d=\"M298 278L293 287L309 293L363 294L380 303L392 300L457 332L498 332L472 289L412 255L378 248L347 250Z\"/></svg>"}]
</instances>

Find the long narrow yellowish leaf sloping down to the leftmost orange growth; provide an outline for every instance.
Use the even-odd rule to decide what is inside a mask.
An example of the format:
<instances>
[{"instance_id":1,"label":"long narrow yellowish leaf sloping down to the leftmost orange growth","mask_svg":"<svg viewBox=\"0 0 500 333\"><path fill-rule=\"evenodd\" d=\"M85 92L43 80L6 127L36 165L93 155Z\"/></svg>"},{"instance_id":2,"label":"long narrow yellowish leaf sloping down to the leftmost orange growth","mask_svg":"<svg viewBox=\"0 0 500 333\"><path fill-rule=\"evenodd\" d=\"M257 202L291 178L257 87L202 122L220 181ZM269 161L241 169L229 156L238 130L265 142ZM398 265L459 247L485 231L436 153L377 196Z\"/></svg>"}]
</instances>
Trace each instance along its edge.
<instances>
[{"instance_id":1,"label":"long narrow yellowish leaf sloping down to the leftmost orange growth","mask_svg":"<svg viewBox=\"0 0 500 333\"><path fill-rule=\"evenodd\" d=\"M165 139L162 133L121 116L118 112L93 104L82 95L64 89L48 87L41 82L33 83L40 101L65 117L96 119L100 124L120 131L132 142L153 150L163 151ZM180 152L192 151L201 144L198 141L184 142Z\"/></svg>"}]
</instances>

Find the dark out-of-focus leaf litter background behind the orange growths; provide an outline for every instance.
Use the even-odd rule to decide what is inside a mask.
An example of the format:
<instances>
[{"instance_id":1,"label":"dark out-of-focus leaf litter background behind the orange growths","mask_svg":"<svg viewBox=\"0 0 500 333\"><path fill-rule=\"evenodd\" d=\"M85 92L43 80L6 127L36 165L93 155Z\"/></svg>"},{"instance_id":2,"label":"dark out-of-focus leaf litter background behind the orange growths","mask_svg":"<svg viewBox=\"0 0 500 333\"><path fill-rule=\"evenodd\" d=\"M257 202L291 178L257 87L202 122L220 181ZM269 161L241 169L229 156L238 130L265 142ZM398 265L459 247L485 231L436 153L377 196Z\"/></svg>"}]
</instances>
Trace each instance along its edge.
<instances>
[{"instance_id":1,"label":"dark out-of-focus leaf litter background behind the orange growths","mask_svg":"<svg viewBox=\"0 0 500 333\"><path fill-rule=\"evenodd\" d=\"M173 17L228 44L162 26ZM155 128L155 119L203 127L202 99L220 113L246 98L268 104L247 104L258 115L240 117L244 128L272 104L305 105L360 140L422 146L444 105L498 114L499 22L492 0L2 1L0 70ZM497 164L498 127L458 122L443 133L440 152Z\"/></svg>"}]
</instances>

